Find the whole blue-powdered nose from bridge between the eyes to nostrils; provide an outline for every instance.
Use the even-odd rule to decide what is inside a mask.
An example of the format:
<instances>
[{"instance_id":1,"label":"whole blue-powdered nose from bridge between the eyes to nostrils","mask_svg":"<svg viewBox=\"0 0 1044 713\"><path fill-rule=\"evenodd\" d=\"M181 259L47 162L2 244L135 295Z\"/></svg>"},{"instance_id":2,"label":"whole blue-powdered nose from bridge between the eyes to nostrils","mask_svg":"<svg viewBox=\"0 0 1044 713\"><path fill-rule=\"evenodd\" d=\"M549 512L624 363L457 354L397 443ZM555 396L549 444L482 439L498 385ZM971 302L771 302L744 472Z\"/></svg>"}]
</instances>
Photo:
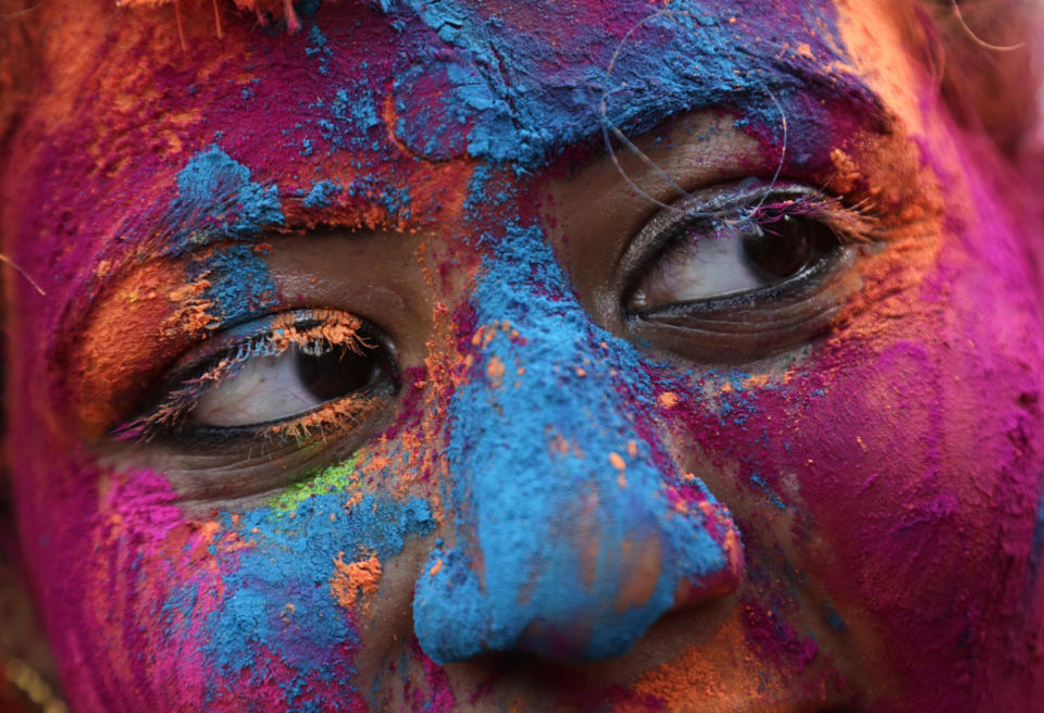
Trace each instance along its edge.
<instances>
[{"instance_id":1,"label":"whole blue-powdered nose from bridge between the eyes to nostrils","mask_svg":"<svg viewBox=\"0 0 1044 713\"><path fill-rule=\"evenodd\" d=\"M592 323L538 232L509 235L485 268L418 638L438 663L623 654L664 613L734 588L738 535L652 435L639 355Z\"/></svg>"}]
</instances>

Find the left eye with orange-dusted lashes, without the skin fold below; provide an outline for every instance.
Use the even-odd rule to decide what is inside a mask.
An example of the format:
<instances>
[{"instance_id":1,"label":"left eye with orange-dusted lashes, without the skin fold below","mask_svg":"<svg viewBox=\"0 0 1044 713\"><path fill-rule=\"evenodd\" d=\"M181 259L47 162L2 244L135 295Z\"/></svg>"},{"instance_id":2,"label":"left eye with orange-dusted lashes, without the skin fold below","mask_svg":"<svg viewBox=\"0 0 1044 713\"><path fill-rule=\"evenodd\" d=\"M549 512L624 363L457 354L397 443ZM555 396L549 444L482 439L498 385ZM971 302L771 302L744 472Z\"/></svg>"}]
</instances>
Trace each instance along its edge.
<instances>
[{"instance_id":1,"label":"left eye with orange-dusted lashes, without the skin fold below","mask_svg":"<svg viewBox=\"0 0 1044 713\"><path fill-rule=\"evenodd\" d=\"M365 430L398 390L387 339L335 310L278 313L183 358L123 439L303 447Z\"/></svg>"}]
</instances>

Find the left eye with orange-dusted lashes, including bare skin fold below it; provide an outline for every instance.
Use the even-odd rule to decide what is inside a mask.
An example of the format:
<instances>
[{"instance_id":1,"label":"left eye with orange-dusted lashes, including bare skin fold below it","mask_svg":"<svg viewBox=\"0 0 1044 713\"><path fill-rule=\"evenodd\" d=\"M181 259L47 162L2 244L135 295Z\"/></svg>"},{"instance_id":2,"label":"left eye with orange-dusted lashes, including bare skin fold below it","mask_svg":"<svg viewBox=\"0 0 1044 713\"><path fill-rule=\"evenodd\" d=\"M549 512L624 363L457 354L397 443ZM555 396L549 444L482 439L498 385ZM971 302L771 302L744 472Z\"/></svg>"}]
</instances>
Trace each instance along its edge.
<instances>
[{"instance_id":1,"label":"left eye with orange-dusted lashes, including bare skin fold below it","mask_svg":"<svg viewBox=\"0 0 1044 713\"><path fill-rule=\"evenodd\" d=\"M324 451L362 446L398 388L375 325L337 310L281 312L189 350L114 436L162 453L187 499L253 495L288 485Z\"/></svg>"}]
</instances>

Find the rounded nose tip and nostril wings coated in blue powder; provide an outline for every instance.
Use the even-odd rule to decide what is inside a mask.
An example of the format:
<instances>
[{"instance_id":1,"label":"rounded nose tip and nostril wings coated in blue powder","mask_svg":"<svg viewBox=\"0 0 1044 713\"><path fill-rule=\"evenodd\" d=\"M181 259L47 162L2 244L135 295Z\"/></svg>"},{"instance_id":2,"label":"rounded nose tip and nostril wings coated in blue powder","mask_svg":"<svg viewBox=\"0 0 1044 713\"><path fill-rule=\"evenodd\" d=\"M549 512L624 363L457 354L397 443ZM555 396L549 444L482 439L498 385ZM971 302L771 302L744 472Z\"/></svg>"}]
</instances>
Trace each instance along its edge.
<instances>
[{"instance_id":1,"label":"rounded nose tip and nostril wings coated in blue powder","mask_svg":"<svg viewBox=\"0 0 1044 713\"><path fill-rule=\"evenodd\" d=\"M667 503L613 486L618 493L588 490L575 508L560 499L560 516L543 522L480 518L474 538L436 547L413 604L425 653L438 663L509 651L606 659L664 614L735 587L742 546L709 496L657 511L649 505Z\"/></svg>"}]
</instances>

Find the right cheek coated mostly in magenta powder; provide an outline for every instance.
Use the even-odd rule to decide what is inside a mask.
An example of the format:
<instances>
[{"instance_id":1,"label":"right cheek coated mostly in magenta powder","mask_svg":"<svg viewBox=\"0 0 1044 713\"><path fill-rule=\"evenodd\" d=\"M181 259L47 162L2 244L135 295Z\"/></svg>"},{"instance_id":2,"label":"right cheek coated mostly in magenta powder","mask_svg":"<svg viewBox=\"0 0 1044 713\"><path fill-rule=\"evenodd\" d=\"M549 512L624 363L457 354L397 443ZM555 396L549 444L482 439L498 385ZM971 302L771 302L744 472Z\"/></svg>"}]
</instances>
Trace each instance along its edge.
<instances>
[{"instance_id":1,"label":"right cheek coated mostly in magenta powder","mask_svg":"<svg viewBox=\"0 0 1044 713\"><path fill-rule=\"evenodd\" d=\"M842 618L869 623L865 651L933 687L1006 655L1004 612L1026 609L1041 540L1032 290L958 263L804 361L659 401L733 509L748 565L782 552ZM937 658L906 653L924 650Z\"/></svg>"}]
</instances>

